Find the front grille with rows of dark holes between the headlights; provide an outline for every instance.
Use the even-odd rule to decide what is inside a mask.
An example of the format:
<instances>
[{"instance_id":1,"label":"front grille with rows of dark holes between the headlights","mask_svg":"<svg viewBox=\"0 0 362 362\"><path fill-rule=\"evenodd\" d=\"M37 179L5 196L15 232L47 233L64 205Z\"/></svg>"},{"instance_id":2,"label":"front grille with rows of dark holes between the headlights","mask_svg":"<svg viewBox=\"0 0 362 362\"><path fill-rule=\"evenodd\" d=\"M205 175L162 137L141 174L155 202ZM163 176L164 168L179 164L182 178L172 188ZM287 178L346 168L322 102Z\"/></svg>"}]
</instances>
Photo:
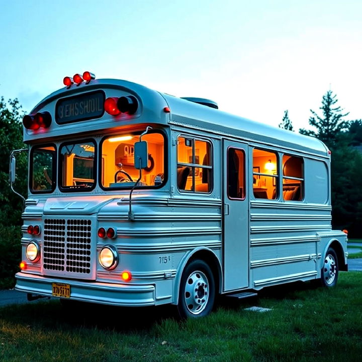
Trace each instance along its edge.
<instances>
[{"instance_id":1,"label":"front grille with rows of dark holes between the headlights","mask_svg":"<svg viewBox=\"0 0 362 362\"><path fill-rule=\"evenodd\" d=\"M91 230L91 220L45 219L44 269L91 274Z\"/></svg>"}]
</instances>

